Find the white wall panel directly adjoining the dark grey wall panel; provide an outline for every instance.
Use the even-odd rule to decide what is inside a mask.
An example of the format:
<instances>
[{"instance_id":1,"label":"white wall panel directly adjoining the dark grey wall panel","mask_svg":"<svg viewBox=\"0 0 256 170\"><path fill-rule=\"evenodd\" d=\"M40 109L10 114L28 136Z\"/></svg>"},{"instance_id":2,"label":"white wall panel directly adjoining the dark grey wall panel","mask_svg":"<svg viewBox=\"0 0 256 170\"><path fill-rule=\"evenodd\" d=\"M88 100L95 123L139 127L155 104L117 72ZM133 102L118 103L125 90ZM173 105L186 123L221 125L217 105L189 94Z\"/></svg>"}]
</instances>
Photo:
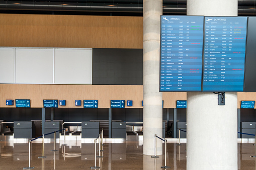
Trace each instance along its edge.
<instances>
[{"instance_id":1,"label":"white wall panel directly adjoining the dark grey wall panel","mask_svg":"<svg viewBox=\"0 0 256 170\"><path fill-rule=\"evenodd\" d=\"M55 49L54 83L92 84L92 49Z\"/></svg>"}]
</instances>

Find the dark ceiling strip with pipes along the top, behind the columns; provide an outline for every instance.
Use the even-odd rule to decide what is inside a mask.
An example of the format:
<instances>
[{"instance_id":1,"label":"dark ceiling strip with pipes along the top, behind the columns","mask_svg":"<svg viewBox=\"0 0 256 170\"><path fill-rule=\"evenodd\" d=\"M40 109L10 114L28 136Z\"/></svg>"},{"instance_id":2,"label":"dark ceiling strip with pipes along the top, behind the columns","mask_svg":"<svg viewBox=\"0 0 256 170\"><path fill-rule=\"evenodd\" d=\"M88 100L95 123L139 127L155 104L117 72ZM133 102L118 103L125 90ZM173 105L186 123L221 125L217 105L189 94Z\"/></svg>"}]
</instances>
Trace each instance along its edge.
<instances>
[{"instance_id":1,"label":"dark ceiling strip with pipes along the top, behind the columns","mask_svg":"<svg viewBox=\"0 0 256 170\"><path fill-rule=\"evenodd\" d=\"M50 1L50 2L49 2ZM3 1L0 0L0 10L34 10L34 11L73 11L73 12L121 12L142 13L142 0L83 0L83 3L69 3L70 0L58 2L48 1ZM63 2L65 1L65 2ZM100 3L101 2L101 3ZM104 3L103 3L104 2ZM106 2L106 3L105 3ZM114 2L114 3L109 3ZM129 4L127 3L129 2ZM135 3L137 2L137 3ZM238 15L255 15L255 1L238 1ZM186 0L163 0L163 14L182 14L187 12Z\"/></svg>"}]
</instances>

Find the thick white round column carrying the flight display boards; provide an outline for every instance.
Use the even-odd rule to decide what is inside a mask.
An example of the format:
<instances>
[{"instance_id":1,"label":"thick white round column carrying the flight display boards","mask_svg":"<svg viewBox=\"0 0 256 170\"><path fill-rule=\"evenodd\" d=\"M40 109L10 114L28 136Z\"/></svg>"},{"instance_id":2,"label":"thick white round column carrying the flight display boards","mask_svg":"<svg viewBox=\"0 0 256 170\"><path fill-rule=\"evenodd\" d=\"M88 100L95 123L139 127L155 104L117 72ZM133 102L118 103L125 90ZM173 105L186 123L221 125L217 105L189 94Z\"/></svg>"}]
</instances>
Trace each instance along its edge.
<instances>
[{"instance_id":1,"label":"thick white round column carrying the flight display boards","mask_svg":"<svg viewBox=\"0 0 256 170\"><path fill-rule=\"evenodd\" d=\"M237 0L188 0L187 15L237 16ZM237 93L187 92L187 169L237 169Z\"/></svg>"}]
</instances>

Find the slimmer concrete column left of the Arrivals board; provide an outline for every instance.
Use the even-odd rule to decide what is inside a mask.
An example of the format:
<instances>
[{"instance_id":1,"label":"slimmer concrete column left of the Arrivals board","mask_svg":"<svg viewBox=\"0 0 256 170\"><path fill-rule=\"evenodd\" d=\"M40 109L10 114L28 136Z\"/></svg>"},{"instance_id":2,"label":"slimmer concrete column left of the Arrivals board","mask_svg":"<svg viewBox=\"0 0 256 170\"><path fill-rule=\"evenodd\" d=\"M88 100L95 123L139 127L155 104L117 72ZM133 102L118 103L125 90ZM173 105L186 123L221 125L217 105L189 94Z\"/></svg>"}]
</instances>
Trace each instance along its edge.
<instances>
[{"instance_id":1,"label":"slimmer concrete column left of the Arrivals board","mask_svg":"<svg viewBox=\"0 0 256 170\"><path fill-rule=\"evenodd\" d=\"M160 15L162 0L143 1L143 154L154 155L154 134L162 137L162 93L159 92ZM157 153L162 142L157 140Z\"/></svg>"}]
</instances>

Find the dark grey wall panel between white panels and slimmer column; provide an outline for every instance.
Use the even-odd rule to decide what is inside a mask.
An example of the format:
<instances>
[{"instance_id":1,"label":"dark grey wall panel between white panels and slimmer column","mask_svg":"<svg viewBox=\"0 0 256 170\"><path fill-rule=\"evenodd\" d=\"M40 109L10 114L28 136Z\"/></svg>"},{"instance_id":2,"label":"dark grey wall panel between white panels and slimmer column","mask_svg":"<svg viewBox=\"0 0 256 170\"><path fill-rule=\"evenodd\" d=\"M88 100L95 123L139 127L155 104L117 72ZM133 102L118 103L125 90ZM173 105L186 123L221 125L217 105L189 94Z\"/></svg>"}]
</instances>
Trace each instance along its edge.
<instances>
[{"instance_id":1,"label":"dark grey wall panel between white panels and slimmer column","mask_svg":"<svg viewBox=\"0 0 256 170\"><path fill-rule=\"evenodd\" d=\"M143 85L143 50L93 49L93 84Z\"/></svg>"}]
</instances>

